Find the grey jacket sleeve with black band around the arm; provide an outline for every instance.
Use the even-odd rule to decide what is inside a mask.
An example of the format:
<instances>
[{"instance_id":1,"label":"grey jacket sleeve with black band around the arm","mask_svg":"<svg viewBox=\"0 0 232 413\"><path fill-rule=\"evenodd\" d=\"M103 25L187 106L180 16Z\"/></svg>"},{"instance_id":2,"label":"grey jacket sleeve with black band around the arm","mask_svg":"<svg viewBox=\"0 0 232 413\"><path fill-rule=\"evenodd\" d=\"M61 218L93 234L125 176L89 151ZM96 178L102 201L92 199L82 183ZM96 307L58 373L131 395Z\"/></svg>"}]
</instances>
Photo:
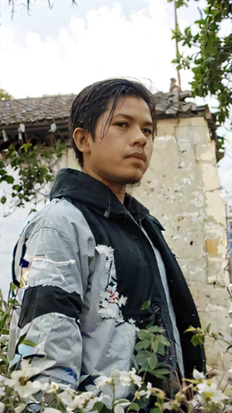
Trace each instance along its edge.
<instances>
[{"instance_id":1,"label":"grey jacket sleeve with black band around the arm","mask_svg":"<svg viewBox=\"0 0 232 413\"><path fill-rule=\"evenodd\" d=\"M54 199L23 231L15 256L19 307L11 320L11 365L32 356L45 364L44 382L78 386L82 337L79 314L88 287L94 240L81 212ZM20 339L33 341L32 347ZM53 362L52 367L46 365Z\"/></svg>"}]
</instances>

